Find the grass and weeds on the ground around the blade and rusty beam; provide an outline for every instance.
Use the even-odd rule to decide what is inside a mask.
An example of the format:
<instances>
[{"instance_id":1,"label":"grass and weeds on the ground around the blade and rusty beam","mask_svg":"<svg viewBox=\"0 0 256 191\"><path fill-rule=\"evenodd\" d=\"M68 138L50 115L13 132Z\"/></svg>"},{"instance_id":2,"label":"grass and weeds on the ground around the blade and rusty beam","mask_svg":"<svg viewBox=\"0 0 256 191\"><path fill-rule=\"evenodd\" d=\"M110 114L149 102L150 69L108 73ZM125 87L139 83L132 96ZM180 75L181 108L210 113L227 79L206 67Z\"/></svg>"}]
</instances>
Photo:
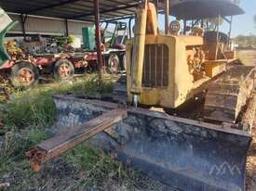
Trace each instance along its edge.
<instances>
[{"instance_id":1,"label":"grass and weeds on the ground around the blade and rusty beam","mask_svg":"<svg viewBox=\"0 0 256 191\"><path fill-rule=\"evenodd\" d=\"M167 186L152 181L86 143L59 159L47 162L41 172L33 172L24 152L47 139L54 122L52 96L108 94L113 78L96 76L73 84L53 83L16 92L4 109L6 124L0 134L0 183L10 183L12 191L161 191Z\"/></svg>"}]
</instances>

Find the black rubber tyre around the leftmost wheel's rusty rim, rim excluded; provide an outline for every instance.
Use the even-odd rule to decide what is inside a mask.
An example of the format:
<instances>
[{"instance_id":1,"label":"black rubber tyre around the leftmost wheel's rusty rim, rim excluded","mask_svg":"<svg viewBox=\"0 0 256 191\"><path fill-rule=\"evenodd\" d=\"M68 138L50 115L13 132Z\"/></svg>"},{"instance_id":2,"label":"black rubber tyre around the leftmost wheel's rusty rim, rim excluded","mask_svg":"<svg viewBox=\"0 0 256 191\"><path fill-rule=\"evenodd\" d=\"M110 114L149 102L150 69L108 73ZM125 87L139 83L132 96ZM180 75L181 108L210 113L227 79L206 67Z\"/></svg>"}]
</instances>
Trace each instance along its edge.
<instances>
[{"instance_id":1,"label":"black rubber tyre around the leftmost wheel's rusty rim, rim excluded","mask_svg":"<svg viewBox=\"0 0 256 191\"><path fill-rule=\"evenodd\" d=\"M30 69L34 74L34 80L29 85L23 85L23 84L21 85L19 83L19 80L17 80L19 78L19 70L24 69L24 68ZM14 87L21 87L21 88L28 89L28 88L36 85L39 82L39 71L34 66L34 64L27 62L27 61L20 61L20 62L16 63L11 68L10 80Z\"/></svg>"}]
</instances>

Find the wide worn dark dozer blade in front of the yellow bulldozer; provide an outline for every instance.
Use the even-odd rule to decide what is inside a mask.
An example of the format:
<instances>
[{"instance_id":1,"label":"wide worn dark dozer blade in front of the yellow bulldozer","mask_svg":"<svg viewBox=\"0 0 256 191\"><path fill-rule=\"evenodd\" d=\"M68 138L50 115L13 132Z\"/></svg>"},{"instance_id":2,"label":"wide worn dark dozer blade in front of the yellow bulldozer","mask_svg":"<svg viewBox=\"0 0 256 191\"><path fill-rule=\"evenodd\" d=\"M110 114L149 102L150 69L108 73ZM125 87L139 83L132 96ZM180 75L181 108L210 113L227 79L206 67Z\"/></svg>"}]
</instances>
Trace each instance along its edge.
<instances>
[{"instance_id":1,"label":"wide worn dark dozer blade in front of the yellow bulldozer","mask_svg":"<svg viewBox=\"0 0 256 191\"><path fill-rule=\"evenodd\" d=\"M55 96L56 127L93 119L117 104ZM251 135L221 125L127 108L128 118L90 143L149 177L184 191L244 191Z\"/></svg>"}]
</instances>

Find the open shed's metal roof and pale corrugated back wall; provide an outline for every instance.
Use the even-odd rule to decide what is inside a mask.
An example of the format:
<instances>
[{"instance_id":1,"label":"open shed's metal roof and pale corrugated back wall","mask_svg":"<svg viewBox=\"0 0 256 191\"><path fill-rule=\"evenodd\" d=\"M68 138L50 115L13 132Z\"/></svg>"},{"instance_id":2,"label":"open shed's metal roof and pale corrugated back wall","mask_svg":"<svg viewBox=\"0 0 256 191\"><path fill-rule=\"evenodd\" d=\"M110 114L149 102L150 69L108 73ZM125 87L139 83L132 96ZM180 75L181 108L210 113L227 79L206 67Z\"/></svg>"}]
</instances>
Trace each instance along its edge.
<instances>
[{"instance_id":1,"label":"open shed's metal roof and pale corrugated back wall","mask_svg":"<svg viewBox=\"0 0 256 191\"><path fill-rule=\"evenodd\" d=\"M100 0L99 4L101 20L123 19L134 14L140 1ZM95 17L94 0L1 0L0 6L12 19L19 21L12 32L22 32L24 36L28 32L39 31L45 34L77 34L77 30L82 31L82 26L94 22Z\"/></svg>"}]
</instances>

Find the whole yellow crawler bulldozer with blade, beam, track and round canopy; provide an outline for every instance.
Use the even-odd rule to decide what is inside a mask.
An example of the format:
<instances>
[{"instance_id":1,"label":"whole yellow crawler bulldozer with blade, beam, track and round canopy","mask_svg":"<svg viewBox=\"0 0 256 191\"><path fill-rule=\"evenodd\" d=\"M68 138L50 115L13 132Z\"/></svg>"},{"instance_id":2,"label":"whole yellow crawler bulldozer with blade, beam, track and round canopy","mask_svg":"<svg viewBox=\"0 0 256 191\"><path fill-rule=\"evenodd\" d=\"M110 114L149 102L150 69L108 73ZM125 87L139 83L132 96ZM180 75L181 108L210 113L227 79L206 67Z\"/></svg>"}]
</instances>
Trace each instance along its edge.
<instances>
[{"instance_id":1,"label":"whole yellow crawler bulldozer with blade, beam, track and round canopy","mask_svg":"<svg viewBox=\"0 0 256 191\"><path fill-rule=\"evenodd\" d=\"M171 10L180 19L202 20L202 27L208 15L243 12L219 0L182 1ZM61 133L26 153L34 169L89 139L180 190L244 191L255 69L236 59L219 30L192 27L181 35L180 29L175 20L160 34L155 5L143 1L127 43L127 75L115 84L113 101L55 96Z\"/></svg>"}]
</instances>

